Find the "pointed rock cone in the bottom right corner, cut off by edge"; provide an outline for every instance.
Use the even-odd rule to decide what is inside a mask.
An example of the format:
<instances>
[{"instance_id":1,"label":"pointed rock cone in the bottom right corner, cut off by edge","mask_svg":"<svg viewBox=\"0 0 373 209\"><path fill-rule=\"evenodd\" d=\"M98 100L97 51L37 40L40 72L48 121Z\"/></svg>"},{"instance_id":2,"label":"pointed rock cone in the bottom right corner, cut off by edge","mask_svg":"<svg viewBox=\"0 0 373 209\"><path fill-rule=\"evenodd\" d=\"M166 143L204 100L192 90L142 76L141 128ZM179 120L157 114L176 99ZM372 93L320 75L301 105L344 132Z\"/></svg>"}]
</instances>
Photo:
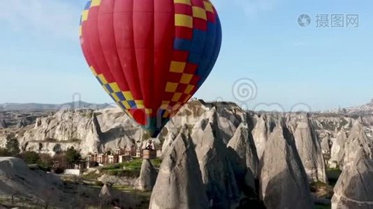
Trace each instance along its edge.
<instances>
[{"instance_id":1,"label":"pointed rock cone in the bottom right corner, cut off by edge","mask_svg":"<svg viewBox=\"0 0 373 209\"><path fill-rule=\"evenodd\" d=\"M360 123L354 125L345 150L332 208L373 208L373 140L367 137Z\"/></svg>"}]
</instances>

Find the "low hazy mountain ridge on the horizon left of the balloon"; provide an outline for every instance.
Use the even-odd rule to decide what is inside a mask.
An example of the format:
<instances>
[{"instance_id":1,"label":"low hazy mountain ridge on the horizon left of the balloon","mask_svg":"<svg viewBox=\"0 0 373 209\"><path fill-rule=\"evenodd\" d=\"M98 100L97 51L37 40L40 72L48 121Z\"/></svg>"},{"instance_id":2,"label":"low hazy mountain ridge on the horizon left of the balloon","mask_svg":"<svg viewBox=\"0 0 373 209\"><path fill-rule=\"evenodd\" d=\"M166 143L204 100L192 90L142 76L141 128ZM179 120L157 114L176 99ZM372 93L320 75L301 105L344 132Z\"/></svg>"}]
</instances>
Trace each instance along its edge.
<instances>
[{"instance_id":1,"label":"low hazy mountain ridge on the horizon left of the balloon","mask_svg":"<svg viewBox=\"0 0 373 209\"><path fill-rule=\"evenodd\" d=\"M0 104L0 111L57 111L59 109L104 109L112 105L93 104L89 102L68 102L64 104L41 104L41 103L4 103Z\"/></svg>"}]
</instances>

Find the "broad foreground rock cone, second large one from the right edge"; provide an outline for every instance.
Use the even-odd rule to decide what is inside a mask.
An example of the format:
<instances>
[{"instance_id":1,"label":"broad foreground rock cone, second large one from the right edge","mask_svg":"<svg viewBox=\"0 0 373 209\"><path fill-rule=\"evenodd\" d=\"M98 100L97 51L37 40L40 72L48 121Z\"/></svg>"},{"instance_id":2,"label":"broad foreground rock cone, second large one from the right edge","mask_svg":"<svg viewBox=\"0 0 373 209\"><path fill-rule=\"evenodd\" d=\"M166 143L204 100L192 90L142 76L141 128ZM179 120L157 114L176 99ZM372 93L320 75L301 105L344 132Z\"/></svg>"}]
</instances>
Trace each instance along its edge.
<instances>
[{"instance_id":1,"label":"broad foreground rock cone, second large one from the right edge","mask_svg":"<svg viewBox=\"0 0 373 209\"><path fill-rule=\"evenodd\" d=\"M314 208L305 169L286 125L277 125L270 135L260 170L260 194L266 208Z\"/></svg>"}]
</instances>

